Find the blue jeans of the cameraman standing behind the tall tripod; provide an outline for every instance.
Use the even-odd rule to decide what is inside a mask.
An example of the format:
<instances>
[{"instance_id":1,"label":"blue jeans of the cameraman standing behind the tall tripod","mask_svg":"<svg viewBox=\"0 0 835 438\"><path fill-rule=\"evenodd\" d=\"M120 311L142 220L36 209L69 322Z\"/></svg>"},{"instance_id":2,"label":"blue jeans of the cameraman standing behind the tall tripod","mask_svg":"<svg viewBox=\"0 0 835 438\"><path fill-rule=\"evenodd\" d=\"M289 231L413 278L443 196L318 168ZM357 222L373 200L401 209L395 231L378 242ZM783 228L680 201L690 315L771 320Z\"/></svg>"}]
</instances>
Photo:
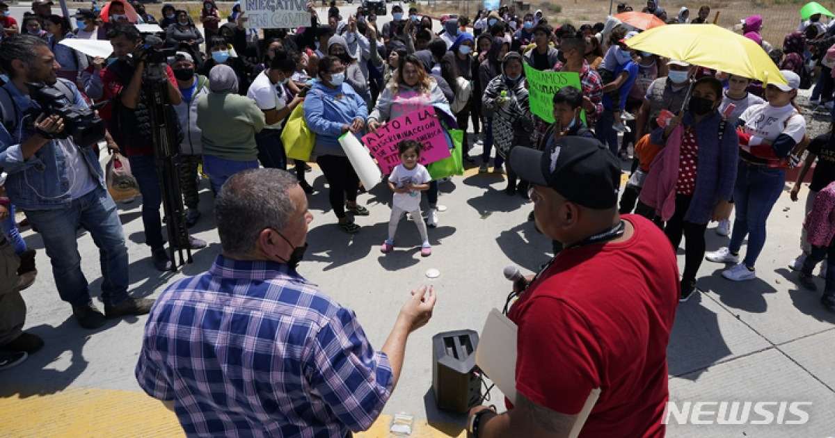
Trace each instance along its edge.
<instances>
[{"instance_id":1,"label":"blue jeans of the cameraman standing behind the tall tripod","mask_svg":"<svg viewBox=\"0 0 835 438\"><path fill-rule=\"evenodd\" d=\"M162 219L159 206L162 205L162 190L159 189L159 175L154 163L154 154L142 154L128 157L130 172L139 183L142 194L142 225L145 229L145 244L151 249L162 248Z\"/></svg>"}]
</instances>

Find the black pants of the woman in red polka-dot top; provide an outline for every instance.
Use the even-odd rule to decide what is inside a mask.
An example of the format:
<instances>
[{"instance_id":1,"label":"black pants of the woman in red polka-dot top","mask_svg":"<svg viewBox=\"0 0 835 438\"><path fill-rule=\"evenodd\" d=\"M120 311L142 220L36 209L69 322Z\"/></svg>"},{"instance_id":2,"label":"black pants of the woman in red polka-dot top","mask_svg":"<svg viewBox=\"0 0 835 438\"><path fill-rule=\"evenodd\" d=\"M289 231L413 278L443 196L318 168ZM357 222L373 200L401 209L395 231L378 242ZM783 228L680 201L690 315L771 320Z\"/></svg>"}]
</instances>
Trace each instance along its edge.
<instances>
[{"instance_id":1,"label":"black pants of the woman in red polka-dot top","mask_svg":"<svg viewBox=\"0 0 835 438\"><path fill-rule=\"evenodd\" d=\"M693 224L684 219L687 209L690 208L690 201L693 196L690 194L676 194L676 213L667 221L664 227L664 234L673 245L673 251L681 244L681 234L687 240L684 256L684 273L681 274L682 281L695 281L696 273L699 272L701 260L705 258L705 230L707 224Z\"/></svg>"}]
</instances>

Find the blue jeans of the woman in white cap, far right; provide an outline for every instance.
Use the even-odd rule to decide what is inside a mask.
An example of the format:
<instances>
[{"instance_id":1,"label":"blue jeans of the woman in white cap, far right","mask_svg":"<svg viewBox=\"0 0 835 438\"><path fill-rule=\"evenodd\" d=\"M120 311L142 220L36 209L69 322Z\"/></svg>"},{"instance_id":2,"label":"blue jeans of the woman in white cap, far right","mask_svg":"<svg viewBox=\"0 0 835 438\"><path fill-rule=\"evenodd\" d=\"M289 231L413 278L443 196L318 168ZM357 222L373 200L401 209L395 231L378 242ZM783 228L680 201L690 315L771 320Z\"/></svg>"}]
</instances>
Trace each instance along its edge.
<instances>
[{"instance_id":1,"label":"blue jeans of the woman in white cap, far right","mask_svg":"<svg viewBox=\"0 0 835 438\"><path fill-rule=\"evenodd\" d=\"M732 253L739 252L742 240L747 235L748 249L742 261L748 267L757 263L757 257L766 244L766 219L780 198L785 183L784 169L768 169L741 160L739 162L733 189L736 220L728 249Z\"/></svg>"}]
</instances>

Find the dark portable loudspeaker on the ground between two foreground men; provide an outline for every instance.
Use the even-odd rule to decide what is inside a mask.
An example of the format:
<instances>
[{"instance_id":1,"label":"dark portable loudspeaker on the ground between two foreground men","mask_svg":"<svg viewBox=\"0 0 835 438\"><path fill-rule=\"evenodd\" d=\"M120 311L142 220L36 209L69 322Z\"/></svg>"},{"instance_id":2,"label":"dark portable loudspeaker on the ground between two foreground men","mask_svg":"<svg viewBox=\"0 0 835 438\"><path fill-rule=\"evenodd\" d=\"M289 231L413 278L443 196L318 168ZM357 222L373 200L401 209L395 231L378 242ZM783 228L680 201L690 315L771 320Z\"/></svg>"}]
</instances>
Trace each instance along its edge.
<instances>
[{"instance_id":1,"label":"dark portable loudspeaker on the ground between two foreground men","mask_svg":"<svg viewBox=\"0 0 835 438\"><path fill-rule=\"evenodd\" d=\"M481 400L481 380L476 373L478 333L456 330L432 337L432 389L439 409L465 413Z\"/></svg>"}]
</instances>

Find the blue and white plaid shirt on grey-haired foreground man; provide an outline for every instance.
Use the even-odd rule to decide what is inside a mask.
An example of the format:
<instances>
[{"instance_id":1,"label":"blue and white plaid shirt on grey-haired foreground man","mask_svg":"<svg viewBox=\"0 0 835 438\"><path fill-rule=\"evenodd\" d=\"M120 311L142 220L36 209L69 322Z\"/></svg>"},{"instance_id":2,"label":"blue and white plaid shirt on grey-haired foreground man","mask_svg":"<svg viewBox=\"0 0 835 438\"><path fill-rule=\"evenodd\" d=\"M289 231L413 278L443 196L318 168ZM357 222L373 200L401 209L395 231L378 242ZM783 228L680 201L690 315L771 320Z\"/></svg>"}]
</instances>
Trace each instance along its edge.
<instances>
[{"instance_id":1,"label":"blue and white plaid shirt on grey-haired foreground man","mask_svg":"<svg viewBox=\"0 0 835 438\"><path fill-rule=\"evenodd\" d=\"M286 264L218 255L171 284L145 326L136 379L174 400L189 436L340 437L392 393L387 356L352 310Z\"/></svg>"}]
</instances>

